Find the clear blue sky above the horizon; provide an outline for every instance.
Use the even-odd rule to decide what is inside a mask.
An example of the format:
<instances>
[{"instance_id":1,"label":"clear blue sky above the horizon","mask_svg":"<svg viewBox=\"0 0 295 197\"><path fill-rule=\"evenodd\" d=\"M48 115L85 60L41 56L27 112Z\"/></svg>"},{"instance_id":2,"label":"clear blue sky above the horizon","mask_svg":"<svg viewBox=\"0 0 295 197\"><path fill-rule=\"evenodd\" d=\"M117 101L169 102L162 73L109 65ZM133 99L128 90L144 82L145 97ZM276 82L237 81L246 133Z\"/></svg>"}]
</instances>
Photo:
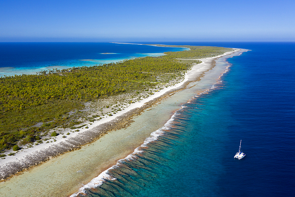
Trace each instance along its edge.
<instances>
[{"instance_id":1,"label":"clear blue sky above the horizon","mask_svg":"<svg viewBox=\"0 0 295 197\"><path fill-rule=\"evenodd\" d=\"M294 0L0 0L0 42L295 41L294 10Z\"/></svg>"}]
</instances>

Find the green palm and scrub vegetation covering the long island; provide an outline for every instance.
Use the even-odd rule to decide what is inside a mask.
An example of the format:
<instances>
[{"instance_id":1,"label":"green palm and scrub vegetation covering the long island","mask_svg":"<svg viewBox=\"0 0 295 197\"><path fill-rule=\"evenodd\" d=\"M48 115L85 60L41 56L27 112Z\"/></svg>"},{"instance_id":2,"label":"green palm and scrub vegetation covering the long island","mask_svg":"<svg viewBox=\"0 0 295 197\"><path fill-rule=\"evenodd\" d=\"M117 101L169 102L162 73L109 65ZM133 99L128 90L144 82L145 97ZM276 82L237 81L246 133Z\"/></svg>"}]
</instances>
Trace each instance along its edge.
<instances>
[{"instance_id":1,"label":"green palm and scrub vegetation covering the long island","mask_svg":"<svg viewBox=\"0 0 295 197\"><path fill-rule=\"evenodd\" d=\"M143 90L148 91L158 83L183 76L192 63L200 62L181 59L217 56L232 51L222 47L177 47L191 50L61 71L49 69L37 75L1 77L0 150L9 149L18 142L28 144L38 141L49 129L86 126L75 127L82 123L77 120L85 102L122 92L139 94ZM112 116L111 113L108 115ZM51 133L51 136L55 135L55 131ZM42 141L35 144L39 143Z\"/></svg>"}]
</instances>

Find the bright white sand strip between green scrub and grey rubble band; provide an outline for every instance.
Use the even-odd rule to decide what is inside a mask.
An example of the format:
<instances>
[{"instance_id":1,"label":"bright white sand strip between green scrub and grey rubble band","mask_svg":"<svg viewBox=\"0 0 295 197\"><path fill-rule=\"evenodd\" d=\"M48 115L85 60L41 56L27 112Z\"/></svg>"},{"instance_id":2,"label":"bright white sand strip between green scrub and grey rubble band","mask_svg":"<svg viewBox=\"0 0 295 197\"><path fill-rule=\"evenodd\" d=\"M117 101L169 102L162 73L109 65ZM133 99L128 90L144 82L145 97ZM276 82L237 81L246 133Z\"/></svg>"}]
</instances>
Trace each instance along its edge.
<instances>
[{"instance_id":1,"label":"bright white sand strip between green scrub and grey rubble band","mask_svg":"<svg viewBox=\"0 0 295 197\"><path fill-rule=\"evenodd\" d=\"M216 56L216 57L198 59L198 60L202 61L202 63L201 64L194 64L192 66L192 68L189 71L186 72L186 74L184 76L184 79L181 82L176 83L173 86L169 86L169 87L165 87L165 85L167 85L167 84L162 84L162 87L157 88L156 91L153 92L153 95L150 95L150 96L148 96L146 98L143 98L142 100L139 100L139 101L137 101L135 103L128 103L128 102L126 102L126 100L120 101L120 103L121 103L120 105L124 106L123 110L117 111L116 114L112 114L112 116L108 116L105 113L109 113L110 110L105 110L104 109L104 111L103 111L103 113L104 113L103 117L104 118L102 118L101 120L95 121L93 123L91 123L89 121L85 121L85 122L83 122L83 123L81 123L79 125L76 125L76 126L81 126L81 125L87 124L87 126L88 126L88 128L85 128L86 126L84 126L82 128L79 128L79 130L80 130L79 132L72 132L73 130L76 130L76 129L70 129L70 128L63 129L63 128L61 128L61 129L59 129L59 132L61 134L56 136L56 137L52 137L52 139L49 139L49 141L50 141L49 143L43 142L42 144L38 144L38 145L33 144L32 145L33 147L31 147L31 148L28 148L27 145L20 146L20 147L22 147L22 149L15 152L16 153L15 155L6 156L5 159L0 159L0 167L3 167L3 166L5 166L5 165L7 165L7 164L9 164L11 162L19 162L21 164L24 160L26 160L26 157L29 156L29 155L38 154L39 151L41 151L43 149L48 149L48 148L50 148L52 146L55 146L57 144L60 144L60 143L65 142L67 140L70 140L72 137L75 137L78 134L82 135L83 132L91 130L91 129L93 129L93 128L97 127L97 126L100 126L100 125L102 125L104 123L107 123L109 121L112 121L115 118L123 115L124 113L127 113L130 110L133 110L135 108L141 108L147 102L149 102L151 100L154 100L154 99L156 99L158 97L161 97L161 95L164 95L167 92L171 92L173 89L177 89L177 88L181 87L185 82L196 80L196 77L198 76L198 74L201 74L202 72L207 70L211 66L212 61L215 58L225 56L225 55L229 55L229 54L232 54L232 53L234 53L236 51L239 51L239 49L235 49L235 51L226 52L223 55ZM147 95L144 95L143 93L141 93L139 96L147 96ZM112 99L115 100L116 97L117 96L114 96L113 98L111 97L111 100ZM122 97L126 98L125 96L122 96ZM112 103L112 102L107 102L107 100L104 100L104 102L105 102L104 106L111 105L111 103ZM112 104L111 106L113 106L113 105L114 104ZM96 110L94 110L94 112L92 112L92 114L99 114L99 113L101 113L100 109L96 109ZM52 131L53 130L51 130L50 132L52 132ZM70 134L66 135L66 133L70 133ZM66 138L63 138L63 136L66 136ZM55 140L55 141L53 141L53 140ZM5 152L5 154L9 154L11 152L14 152L14 151L12 151L12 149L11 149L11 150ZM38 161L36 161L36 165L37 165L37 163L38 163Z\"/></svg>"}]
</instances>

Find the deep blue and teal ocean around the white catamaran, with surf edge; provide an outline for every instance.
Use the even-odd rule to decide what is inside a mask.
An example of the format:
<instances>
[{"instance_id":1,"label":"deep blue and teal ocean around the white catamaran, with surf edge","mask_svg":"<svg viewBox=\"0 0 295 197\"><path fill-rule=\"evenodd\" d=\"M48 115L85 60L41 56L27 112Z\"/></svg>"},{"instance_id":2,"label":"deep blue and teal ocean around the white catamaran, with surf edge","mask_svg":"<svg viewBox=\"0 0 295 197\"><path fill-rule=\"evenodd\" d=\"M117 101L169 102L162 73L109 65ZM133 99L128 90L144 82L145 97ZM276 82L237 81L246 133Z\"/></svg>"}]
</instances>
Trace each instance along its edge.
<instances>
[{"instance_id":1,"label":"deep blue and teal ocean around the white catamaran, with surf edge","mask_svg":"<svg viewBox=\"0 0 295 197\"><path fill-rule=\"evenodd\" d=\"M251 51L86 196L294 196L295 43L173 44Z\"/></svg>"}]
</instances>

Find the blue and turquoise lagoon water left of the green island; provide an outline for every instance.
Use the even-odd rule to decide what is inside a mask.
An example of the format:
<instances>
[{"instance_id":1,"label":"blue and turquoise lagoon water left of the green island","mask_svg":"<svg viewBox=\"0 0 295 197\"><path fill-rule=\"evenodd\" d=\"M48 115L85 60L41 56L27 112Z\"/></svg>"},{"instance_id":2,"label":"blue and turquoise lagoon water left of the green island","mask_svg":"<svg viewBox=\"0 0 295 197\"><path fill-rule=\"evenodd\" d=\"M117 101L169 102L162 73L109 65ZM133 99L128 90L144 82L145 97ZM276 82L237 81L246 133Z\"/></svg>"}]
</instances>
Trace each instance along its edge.
<instances>
[{"instance_id":1,"label":"blue and turquoise lagoon water left of the green island","mask_svg":"<svg viewBox=\"0 0 295 197\"><path fill-rule=\"evenodd\" d=\"M182 50L187 48L123 43L0 43L0 76L94 66Z\"/></svg>"}]
</instances>

